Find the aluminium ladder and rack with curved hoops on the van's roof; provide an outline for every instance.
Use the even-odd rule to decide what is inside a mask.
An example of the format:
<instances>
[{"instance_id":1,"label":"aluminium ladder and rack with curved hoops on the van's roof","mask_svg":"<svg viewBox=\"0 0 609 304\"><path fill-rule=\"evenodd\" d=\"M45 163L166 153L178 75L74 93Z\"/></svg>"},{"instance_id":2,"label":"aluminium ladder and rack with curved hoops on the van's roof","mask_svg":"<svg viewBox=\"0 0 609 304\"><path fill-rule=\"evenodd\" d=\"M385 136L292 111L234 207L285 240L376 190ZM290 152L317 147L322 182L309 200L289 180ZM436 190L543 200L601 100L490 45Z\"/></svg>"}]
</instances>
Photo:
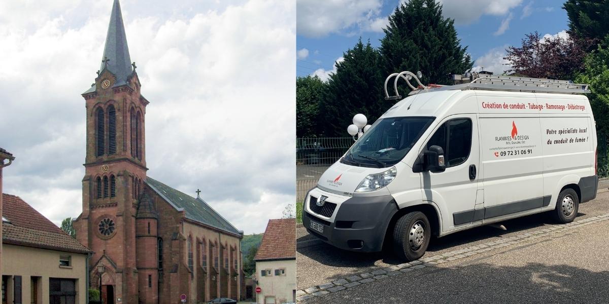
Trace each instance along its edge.
<instances>
[{"instance_id":1,"label":"aluminium ladder and rack with curved hoops on the van's roof","mask_svg":"<svg viewBox=\"0 0 609 304\"><path fill-rule=\"evenodd\" d=\"M407 75L408 77L405 77ZM393 81L393 91L395 95L389 96L387 92L387 83L390 78L396 76ZM557 94L585 94L589 93L588 85L580 83L572 83L569 80L553 80L546 78L530 78L530 77L516 77L516 76L504 76L504 75L488 75L478 73L468 73L466 75L453 75L453 79L456 83L462 82L457 85L451 86L423 86L417 75L411 72L401 72L389 75L385 80L385 99L401 99L398 94L398 79L403 78L409 85L412 91L409 95L421 94L425 92L434 91L446 91L446 90L467 90L467 89L479 89L488 91L515 91L515 92L541 92L541 93L557 93ZM410 83L409 78L415 78L418 83L418 87L414 88ZM471 80L470 82L466 82Z\"/></svg>"}]
</instances>

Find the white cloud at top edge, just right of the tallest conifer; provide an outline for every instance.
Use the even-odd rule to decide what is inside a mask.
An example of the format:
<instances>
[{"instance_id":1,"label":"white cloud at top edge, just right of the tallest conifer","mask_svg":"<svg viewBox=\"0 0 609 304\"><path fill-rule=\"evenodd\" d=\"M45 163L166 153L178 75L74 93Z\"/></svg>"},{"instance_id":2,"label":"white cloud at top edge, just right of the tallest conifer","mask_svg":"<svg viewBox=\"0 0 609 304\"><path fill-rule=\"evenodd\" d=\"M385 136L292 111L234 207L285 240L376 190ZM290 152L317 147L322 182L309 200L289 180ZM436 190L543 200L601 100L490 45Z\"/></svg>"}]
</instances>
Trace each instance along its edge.
<instances>
[{"instance_id":1,"label":"white cloud at top edge, just right of the tallest conifer","mask_svg":"<svg viewBox=\"0 0 609 304\"><path fill-rule=\"evenodd\" d=\"M505 16L523 0L440 0L442 14L457 24L476 22L482 15Z\"/></svg>"}]
</instances>

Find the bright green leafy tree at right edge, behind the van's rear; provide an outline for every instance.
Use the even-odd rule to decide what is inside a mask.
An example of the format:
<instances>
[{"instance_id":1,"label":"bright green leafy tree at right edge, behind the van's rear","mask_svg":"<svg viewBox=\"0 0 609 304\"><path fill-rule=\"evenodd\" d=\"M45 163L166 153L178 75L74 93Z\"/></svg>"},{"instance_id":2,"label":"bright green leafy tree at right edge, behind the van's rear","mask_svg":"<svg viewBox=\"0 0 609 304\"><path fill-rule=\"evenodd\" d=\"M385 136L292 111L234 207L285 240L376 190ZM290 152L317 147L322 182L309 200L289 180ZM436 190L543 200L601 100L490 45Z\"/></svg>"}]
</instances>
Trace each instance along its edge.
<instances>
[{"instance_id":1,"label":"bright green leafy tree at right edge, behind the van's rear","mask_svg":"<svg viewBox=\"0 0 609 304\"><path fill-rule=\"evenodd\" d=\"M599 44L597 50L586 56L584 71L575 81L590 85L588 99L596 120L596 131L600 136L609 136L609 38Z\"/></svg>"}]
</instances>

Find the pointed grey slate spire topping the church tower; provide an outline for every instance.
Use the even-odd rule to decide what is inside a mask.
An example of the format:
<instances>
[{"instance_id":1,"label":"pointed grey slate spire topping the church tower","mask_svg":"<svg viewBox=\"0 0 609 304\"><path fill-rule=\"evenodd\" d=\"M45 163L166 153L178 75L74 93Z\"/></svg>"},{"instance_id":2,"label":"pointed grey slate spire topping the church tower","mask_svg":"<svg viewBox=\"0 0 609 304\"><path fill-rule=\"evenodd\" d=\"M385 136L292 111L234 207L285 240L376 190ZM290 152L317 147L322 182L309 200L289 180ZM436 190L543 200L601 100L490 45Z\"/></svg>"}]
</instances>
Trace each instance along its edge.
<instances>
[{"instance_id":1,"label":"pointed grey slate spire topping the church tower","mask_svg":"<svg viewBox=\"0 0 609 304\"><path fill-rule=\"evenodd\" d=\"M125 26L122 22L121 4L118 0L114 0L112 5L104 56L102 56L102 66L99 71L104 71L104 68L116 75L114 86L125 85L127 78L133 72Z\"/></svg>"}]
</instances>

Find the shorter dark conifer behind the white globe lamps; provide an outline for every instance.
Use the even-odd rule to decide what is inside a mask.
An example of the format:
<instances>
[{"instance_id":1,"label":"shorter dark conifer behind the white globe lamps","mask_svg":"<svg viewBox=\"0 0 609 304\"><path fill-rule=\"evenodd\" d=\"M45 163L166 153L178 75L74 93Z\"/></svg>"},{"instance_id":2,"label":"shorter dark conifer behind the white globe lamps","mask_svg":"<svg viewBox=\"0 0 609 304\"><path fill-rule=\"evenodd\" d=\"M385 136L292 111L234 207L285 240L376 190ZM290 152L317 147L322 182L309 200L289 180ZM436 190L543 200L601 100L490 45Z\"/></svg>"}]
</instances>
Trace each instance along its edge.
<instances>
[{"instance_id":1,"label":"shorter dark conifer behind the white globe lamps","mask_svg":"<svg viewBox=\"0 0 609 304\"><path fill-rule=\"evenodd\" d=\"M361 38L353 49L336 63L336 73L330 75L320 104L320 120L325 136L345 137L353 116L362 113L374 122L392 103L385 102L382 93L381 55L364 44Z\"/></svg>"}]
</instances>

